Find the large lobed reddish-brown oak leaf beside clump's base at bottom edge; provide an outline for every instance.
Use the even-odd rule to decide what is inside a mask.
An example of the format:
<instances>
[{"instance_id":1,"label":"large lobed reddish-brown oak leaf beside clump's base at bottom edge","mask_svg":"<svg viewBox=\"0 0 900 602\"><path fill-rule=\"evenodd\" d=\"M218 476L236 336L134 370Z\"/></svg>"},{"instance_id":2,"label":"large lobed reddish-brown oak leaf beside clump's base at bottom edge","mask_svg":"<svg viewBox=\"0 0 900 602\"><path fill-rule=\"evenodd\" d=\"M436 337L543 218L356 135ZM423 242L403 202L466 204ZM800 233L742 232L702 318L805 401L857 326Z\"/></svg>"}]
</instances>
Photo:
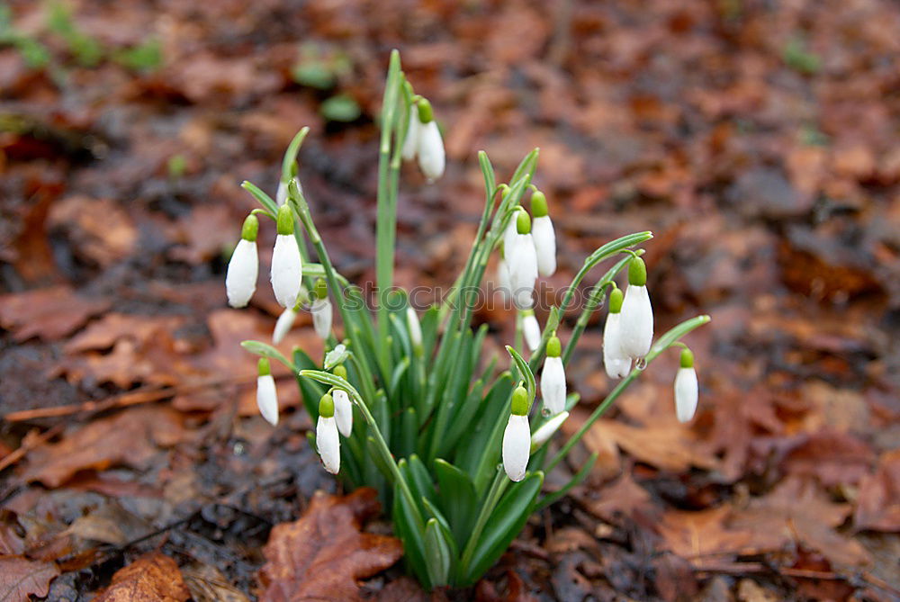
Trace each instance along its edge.
<instances>
[{"instance_id":1,"label":"large lobed reddish-brown oak leaf beside clump's base at bottom edge","mask_svg":"<svg viewBox=\"0 0 900 602\"><path fill-rule=\"evenodd\" d=\"M399 539L363 533L379 511L377 493L362 488L344 496L318 492L293 523L272 529L263 549L260 600L357 600L358 580L390 567L403 555Z\"/></svg>"}]
</instances>

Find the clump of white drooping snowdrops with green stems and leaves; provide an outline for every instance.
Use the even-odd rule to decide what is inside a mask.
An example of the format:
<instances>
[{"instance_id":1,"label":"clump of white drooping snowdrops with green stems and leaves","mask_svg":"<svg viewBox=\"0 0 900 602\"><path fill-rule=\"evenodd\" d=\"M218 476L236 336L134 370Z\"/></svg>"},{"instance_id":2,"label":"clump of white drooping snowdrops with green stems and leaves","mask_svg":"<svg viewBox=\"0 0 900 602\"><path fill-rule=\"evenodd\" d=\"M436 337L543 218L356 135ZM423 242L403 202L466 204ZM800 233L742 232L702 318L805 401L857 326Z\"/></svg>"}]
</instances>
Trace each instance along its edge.
<instances>
[{"instance_id":1,"label":"clump of white drooping snowdrops with green stems and leaves","mask_svg":"<svg viewBox=\"0 0 900 602\"><path fill-rule=\"evenodd\" d=\"M325 469L347 487L374 487L390 504L394 532L404 546L408 570L425 588L472 585L497 561L528 517L562 498L589 474L596 454L563 488L542 491L549 472L572 450L644 368L672 346L680 348L674 383L678 418L697 406L693 355L680 338L706 323L689 319L653 342L653 308L647 270L638 245L653 238L636 232L599 247L584 260L559 306L543 326L533 308L540 276L556 269L556 241L544 193L532 184L538 151L528 153L506 184L497 184L487 155L484 211L455 286L424 312L393 286L397 190L403 159L418 159L429 182L444 172L441 132L430 103L412 89L392 54L384 91L379 148L376 224L377 308L347 282L329 259L325 241L297 177L296 157L307 130L284 155L275 200L254 184L244 187L262 205L244 222L226 277L229 303L247 304L257 286L258 216L277 229L271 283L284 313L273 346L245 341L258 360L257 402L272 425L278 422L270 360L296 374L302 400L316 424L308 433ZM526 205L530 208L527 211ZM313 261L312 257L318 261ZM472 326L473 306L489 258L500 256L495 282L516 309L517 336L509 358L486 358L487 326ZM574 293L595 266L610 262L590 288L568 333L561 317L574 310ZM617 276L625 288L617 286ZM562 445L554 434L578 402L567 391L565 366L594 311L608 297L603 364L618 380L606 400ZM310 310L326 353L313 359L276 346L299 311ZM343 325L333 328L337 310ZM567 338L563 346L563 339ZM599 358L598 358L599 366ZM620 379L620 380L619 380ZM540 393L540 395L538 395Z\"/></svg>"}]
</instances>

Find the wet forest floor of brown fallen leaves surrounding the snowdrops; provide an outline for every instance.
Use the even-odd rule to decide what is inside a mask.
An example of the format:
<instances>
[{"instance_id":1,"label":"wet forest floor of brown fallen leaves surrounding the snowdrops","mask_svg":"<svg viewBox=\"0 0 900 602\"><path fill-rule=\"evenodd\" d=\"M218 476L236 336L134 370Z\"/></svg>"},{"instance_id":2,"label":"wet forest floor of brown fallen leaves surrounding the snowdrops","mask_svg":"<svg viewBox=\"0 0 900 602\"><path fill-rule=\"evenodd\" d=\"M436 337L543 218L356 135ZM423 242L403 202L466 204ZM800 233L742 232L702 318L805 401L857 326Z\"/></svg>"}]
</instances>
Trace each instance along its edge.
<instances>
[{"instance_id":1,"label":"wet forest floor of brown fallen leaves surrounding the snowdrops","mask_svg":"<svg viewBox=\"0 0 900 602\"><path fill-rule=\"evenodd\" d=\"M261 575L293 569L266 543L307 512L346 526L296 529L293 549L342 546L307 578L359 598L900 599L897 31L889 0L0 2L0 598L282 599ZM238 342L279 313L270 229L251 307L225 300L240 183L274 193L302 126L332 258L374 281L392 48L448 158L437 184L404 169L401 286L462 267L476 152L504 178L539 147L548 286L651 229L657 331L712 316L689 337L693 422L662 357L546 486L597 452L589 480L463 592L426 594L377 545L353 564L390 525L365 495L317 497L344 492L290 374L282 422L257 416ZM511 311L477 321L509 341ZM570 432L610 389L601 325L572 360ZM308 315L294 345L320 354Z\"/></svg>"}]
</instances>

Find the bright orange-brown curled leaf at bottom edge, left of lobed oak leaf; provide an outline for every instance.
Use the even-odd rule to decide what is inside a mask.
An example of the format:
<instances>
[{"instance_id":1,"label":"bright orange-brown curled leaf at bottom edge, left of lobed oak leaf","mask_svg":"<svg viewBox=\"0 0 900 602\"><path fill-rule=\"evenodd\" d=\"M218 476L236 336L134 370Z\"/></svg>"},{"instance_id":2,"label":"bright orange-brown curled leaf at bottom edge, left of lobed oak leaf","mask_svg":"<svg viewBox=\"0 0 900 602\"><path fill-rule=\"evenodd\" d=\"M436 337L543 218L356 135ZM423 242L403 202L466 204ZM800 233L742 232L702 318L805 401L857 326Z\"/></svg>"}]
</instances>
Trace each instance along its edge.
<instances>
[{"instance_id":1,"label":"bright orange-brown curled leaf at bottom edge, left of lobed oak leaf","mask_svg":"<svg viewBox=\"0 0 900 602\"><path fill-rule=\"evenodd\" d=\"M191 592L174 560L149 553L112 575L112 584L96 602L184 602Z\"/></svg>"}]
</instances>

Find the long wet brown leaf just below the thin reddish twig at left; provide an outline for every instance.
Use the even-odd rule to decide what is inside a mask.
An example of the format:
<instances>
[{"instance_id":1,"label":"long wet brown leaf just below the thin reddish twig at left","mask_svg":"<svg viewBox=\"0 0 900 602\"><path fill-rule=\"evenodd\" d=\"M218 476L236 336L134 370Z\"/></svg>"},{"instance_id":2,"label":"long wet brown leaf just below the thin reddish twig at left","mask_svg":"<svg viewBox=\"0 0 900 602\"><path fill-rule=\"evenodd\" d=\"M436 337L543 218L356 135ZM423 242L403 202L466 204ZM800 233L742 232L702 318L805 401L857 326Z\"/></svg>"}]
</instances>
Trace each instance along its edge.
<instances>
[{"instance_id":1,"label":"long wet brown leaf just below the thin reddish twig at left","mask_svg":"<svg viewBox=\"0 0 900 602\"><path fill-rule=\"evenodd\" d=\"M59 487L76 472L103 470L115 464L146 467L158 448L170 447L184 434L184 417L166 406L127 409L94 420L29 454L25 481Z\"/></svg>"}]
</instances>

